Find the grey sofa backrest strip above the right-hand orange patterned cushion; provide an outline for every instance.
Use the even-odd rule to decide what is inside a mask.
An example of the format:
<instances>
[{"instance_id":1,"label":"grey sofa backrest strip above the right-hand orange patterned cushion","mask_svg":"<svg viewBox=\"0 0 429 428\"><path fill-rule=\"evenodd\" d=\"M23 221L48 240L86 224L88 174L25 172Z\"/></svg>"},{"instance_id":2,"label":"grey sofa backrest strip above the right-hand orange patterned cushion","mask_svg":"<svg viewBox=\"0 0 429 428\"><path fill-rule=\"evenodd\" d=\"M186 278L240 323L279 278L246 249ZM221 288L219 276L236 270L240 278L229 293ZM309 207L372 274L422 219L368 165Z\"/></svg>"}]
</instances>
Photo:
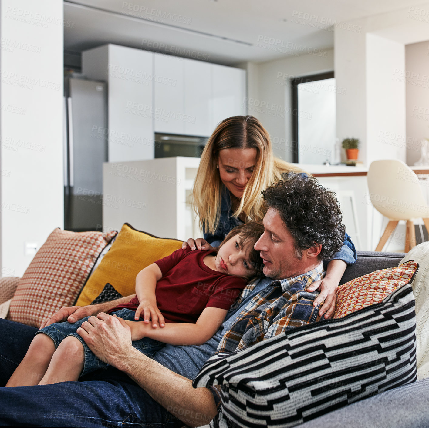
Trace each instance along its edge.
<instances>
[{"instance_id":1,"label":"grey sofa backrest strip above the right-hand orange patterned cushion","mask_svg":"<svg viewBox=\"0 0 429 428\"><path fill-rule=\"evenodd\" d=\"M383 253L376 251L357 251L357 260L349 264L341 278L340 285L378 269L398 266L406 253Z\"/></svg>"}]
</instances>

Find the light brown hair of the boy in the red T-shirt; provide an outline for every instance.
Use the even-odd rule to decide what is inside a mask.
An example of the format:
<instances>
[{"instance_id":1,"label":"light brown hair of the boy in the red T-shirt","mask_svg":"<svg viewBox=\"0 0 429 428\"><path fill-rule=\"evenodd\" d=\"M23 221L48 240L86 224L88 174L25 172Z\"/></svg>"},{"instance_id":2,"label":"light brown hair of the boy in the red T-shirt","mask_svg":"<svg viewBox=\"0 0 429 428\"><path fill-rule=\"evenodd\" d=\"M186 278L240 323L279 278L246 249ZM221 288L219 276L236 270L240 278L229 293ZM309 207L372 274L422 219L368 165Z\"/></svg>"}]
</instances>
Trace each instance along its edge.
<instances>
[{"instance_id":1,"label":"light brown hair of the boy in the red T-shirt","mask_svg":"<svg viewBox=\"0 0 429 428\"><path fill-rule=\"evenodd\" d=\"M225 236L225 239L219 245L221 248L225 242L229 239L233 238L237 234L239 235L239 245L244 248L245 251L250 248L249 261L251 262L253 269L255 270L256 276L264 276L262 273L262 269L264 267L262 258L260 256L259 251L254 249L254 245L260 236L264 233L264 225L262 221L248 221L245 224L240 224L237 227L234 227L230 233Z\"/></svg>"}]
</instances>

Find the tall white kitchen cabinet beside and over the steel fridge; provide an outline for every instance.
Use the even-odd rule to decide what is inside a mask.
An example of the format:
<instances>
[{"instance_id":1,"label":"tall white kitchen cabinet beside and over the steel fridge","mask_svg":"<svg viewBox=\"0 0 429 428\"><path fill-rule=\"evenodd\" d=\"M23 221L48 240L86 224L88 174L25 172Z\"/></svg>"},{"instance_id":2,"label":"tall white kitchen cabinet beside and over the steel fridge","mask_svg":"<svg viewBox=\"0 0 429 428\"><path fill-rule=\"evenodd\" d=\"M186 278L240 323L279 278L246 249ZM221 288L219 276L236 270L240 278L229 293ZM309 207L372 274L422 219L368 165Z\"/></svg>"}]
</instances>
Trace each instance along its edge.
<instances>
[{"instance_id":1,"label":"tall white kitchen cabinet beside and over the steel fridge","mask_svg":"<svg viewBox=\"0 0 429 428\"><path fill-rule=\"evenodd\" d=\"M103 45L82 52L82 72L108 85L108 159L121 162L154 158L153 54L140 49Z\"/></svg>"}]
</instances>

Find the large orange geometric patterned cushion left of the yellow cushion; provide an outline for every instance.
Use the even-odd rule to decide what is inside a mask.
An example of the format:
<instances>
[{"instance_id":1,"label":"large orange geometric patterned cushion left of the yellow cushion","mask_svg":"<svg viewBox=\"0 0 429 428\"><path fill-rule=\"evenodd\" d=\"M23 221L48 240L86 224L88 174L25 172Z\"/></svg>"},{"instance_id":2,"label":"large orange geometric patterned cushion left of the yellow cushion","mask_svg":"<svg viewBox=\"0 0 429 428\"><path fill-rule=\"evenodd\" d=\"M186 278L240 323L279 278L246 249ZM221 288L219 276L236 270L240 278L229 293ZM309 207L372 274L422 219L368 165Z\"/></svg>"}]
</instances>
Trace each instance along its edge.
<instances>
[{"instance_id":1,"label":"large orange geometric patterned cushion left of the yellow cushion","mask_svg":"<svg viewBox=\"0 0 429 428\"><path fill-rule=\"evenodd\" d=\"M97 257L116 233L55 229L19 280L7 318L40 327L60 308L73 305Z\"/></svg>"}]
</instances>

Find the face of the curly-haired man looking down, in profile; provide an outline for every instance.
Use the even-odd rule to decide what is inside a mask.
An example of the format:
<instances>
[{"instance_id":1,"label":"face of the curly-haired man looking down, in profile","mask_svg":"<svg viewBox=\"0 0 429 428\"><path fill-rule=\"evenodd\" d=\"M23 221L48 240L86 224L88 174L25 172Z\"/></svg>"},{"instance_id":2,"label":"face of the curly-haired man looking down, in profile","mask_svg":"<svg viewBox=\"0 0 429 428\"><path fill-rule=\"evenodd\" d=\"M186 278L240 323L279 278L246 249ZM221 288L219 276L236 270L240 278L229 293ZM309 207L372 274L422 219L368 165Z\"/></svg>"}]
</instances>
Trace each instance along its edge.
<instances>
[{"instance_id":1,"label":"face of the curly-haired man looking down, in profile","mask_svg":"<svg viewBox=\"0 0 429 428\"><path fill-rule=\"evenodd\" d=\"M269 208L264 219L264 233L255 244L263 259L264 275L272 279L292 278L312 269L315 260L295 255L295 240L286 229L277 210ZM318 264L317 262L316 264Z\"/></svg>"}]
</instances>

